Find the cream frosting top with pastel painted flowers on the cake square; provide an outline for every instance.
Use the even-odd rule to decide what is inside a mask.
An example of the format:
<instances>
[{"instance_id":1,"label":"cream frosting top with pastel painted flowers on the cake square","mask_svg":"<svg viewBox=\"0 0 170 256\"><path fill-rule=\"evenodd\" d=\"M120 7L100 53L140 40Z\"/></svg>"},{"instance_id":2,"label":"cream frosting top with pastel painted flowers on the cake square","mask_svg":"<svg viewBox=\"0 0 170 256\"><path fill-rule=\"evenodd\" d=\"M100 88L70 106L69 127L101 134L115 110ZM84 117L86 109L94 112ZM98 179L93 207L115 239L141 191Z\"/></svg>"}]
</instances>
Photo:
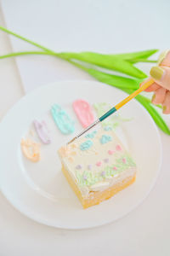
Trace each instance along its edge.
<instances>
[{"instance_id":1,"label":"cream frosting top with pastel painted flowers on the cake square","mask_svg":"<svg viewBox=\"0 0 170 256\"><path fill-rule=\"evenodd\" d=\"M84 196L88 196L91 191L110 187L121 177L126 178L136 172L132 157L114 131L101 128L94 135L89 139L85 135L59 148L62 164Z\"/></svg>"}]
</instances>

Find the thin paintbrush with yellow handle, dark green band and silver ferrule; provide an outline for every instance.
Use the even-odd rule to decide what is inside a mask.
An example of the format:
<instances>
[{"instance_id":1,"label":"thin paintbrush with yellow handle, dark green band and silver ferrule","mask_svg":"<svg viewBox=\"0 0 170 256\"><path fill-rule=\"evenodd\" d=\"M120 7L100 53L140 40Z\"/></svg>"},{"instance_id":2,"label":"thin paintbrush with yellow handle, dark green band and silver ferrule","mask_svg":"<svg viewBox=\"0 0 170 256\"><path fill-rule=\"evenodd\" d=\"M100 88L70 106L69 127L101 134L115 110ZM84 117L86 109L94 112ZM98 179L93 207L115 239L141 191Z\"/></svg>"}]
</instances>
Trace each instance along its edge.
<instances>
[{"instance_id":1,"label":"thin paintbrush with yellow handle, dark green band and silver ferrule","mask_svg":"<svg viewBox=\"0 0 170 256\"><path fill-rule=\"evenodd\" d=\"M81 137L84 133L86 133L87 131L89 131L90 129L92 129L95 125L98 125L100 122L102 122L103 120L105 120L106 118L108 118L112 113L115 113L119 108L122 108L122 106L124 106L125 104L127 104L127 102L130 102L135 96L139 95L140 92L142 92L143 90L145 90L146 88L148 88L151 84L154 83L153 79L150 79L149 81L145 82L141 87L139 87L138 90L135 90L131 95L127 96L127 98L125 98L124 100L122 100L122 102L119 102L118 104L116 104L115 107L111 108L109 111L107 111L106 113L104 113L99 119L97 119L92 125L89 125L86 129L84 129L83 131L81 131L76 137L74 137L69 143L70 144L72 142L74 142L78 137Z\"/></svg>"}]
</instances>

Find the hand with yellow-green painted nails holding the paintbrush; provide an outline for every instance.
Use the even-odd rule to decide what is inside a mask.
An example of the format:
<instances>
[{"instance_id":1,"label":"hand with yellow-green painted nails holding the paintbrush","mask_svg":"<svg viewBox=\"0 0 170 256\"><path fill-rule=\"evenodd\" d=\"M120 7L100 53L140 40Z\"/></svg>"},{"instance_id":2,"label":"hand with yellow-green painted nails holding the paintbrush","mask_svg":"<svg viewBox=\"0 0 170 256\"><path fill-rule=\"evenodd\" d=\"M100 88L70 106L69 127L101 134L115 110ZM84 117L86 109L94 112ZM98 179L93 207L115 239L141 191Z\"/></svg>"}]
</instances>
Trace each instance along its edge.
<instances>
[{"instance_id":1,"label":"hand with yellow-green painted nails holding the paintbrush","mask_svg":"<svg viewBox=\"0 0 170 256\"><path fill-rule=\"evenodd\" d=\"M150 78L147 81L150 79L154 79L155 83L145 91L154 91L151 102L161 104L163 113L170 113L170 50L163 52L159 57L158 66L150 69Z\"/></svg>"}]
</instances>

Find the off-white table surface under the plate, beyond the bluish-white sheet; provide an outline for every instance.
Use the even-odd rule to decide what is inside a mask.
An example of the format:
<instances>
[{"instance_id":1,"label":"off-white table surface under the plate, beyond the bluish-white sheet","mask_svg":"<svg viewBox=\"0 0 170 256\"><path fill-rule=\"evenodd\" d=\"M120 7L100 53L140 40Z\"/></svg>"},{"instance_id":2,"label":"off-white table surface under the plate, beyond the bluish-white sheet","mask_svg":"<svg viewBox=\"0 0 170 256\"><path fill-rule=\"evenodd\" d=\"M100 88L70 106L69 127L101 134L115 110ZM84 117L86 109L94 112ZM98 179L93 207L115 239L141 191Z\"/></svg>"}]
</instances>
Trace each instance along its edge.
<instances>
[{"instance_id":1,"label":"off-white table surface under the plate, beyond the bluish-white sheet","mask_svg":"<svg viewBox=\"0 0 170 256\"><path fill-rule=\"evenodd\" d=\"M1 9L0 24L4 26ZM0 32L0 54L10 51L7 36ZM14 60L0 61L0 78L2 119L8 108L24 95L24 91ZM16 211L0 194L0 256L169 255L170 137L161 133L161 142L161 173L150 195L126 217L97 229L58 230L37 224Z\"/></svg>"}]
</instances>

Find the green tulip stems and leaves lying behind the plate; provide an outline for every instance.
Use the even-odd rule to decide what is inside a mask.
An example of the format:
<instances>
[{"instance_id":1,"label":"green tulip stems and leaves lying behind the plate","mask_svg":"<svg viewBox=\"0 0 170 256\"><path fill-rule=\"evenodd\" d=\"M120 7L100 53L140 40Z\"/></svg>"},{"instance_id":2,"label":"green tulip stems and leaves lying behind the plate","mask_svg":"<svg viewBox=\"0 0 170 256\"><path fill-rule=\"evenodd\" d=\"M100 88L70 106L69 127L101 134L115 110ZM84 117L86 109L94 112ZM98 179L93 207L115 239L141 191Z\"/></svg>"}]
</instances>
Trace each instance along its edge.
<instances>
[{"instance_id":1,"label":"green tulip stems and leaves lying behind the plate","mask_svg":"<svg viewBox=\"0 0 170 256\"><path fill-rule=\"evenodd\" d=\"M133 63L139 62L139 61L150 61L147 60L150 55L153 55L156 53L157 49L150 49L150 50L144 50L139 52L133 52L133 53L125 53L125 54L116 54L116 55L102 55L98 53L93 52L82 52L82 53L56 53L54 50L48 49L41 44L37 44L33 41L31 41L28 38L24 38L20 36L19 34L16 34L14 32L9 31L3 26L0 26L0 30L3 32L7 32L8 34L13 35L16 38L19 38L29 44L32 44L36 46L39 49L42 49L42 51L26 51L26 52L18 52L18 53L11 53L8 55L2 55L0 56L1 59L12 57L12 56L19 56L19 55L31 55L31 54L37 54L37 55L53 55L54 57L59 57L61 59L64 59L65 61L69 61L71 64L81 68L85 72L88 72L91 76L93 76L95 79L98 79L100 82L103 82L105 84L110 84L111 86L115 86L125 92L127 94L133 93L134 90L137 90L139 88L139 83L146 77L146 75L139 70L139 68L134 67ZM84 67L83 65L72 61L72 60L78 60L78 61L84 61L91 64L94 64L98 67L105 67L108 70L115 70L120 73L126 73L133 78L125 78L122 76L113 75L110 73L103 73L93 68ZM155 61L153 61L155 62ZM136 96L136 100L139 101L144 108L150 113L151 117L156 122L156 125L161 129L161 131L165 132L167 135L170 135L170 129L167 126L164 119L161 118L161 115L157 113L156 109L152 107L150 99L144 97L144 96ZM161 108L161 106L157 106L158 108Z\"/></svg>"}]
</instances>

